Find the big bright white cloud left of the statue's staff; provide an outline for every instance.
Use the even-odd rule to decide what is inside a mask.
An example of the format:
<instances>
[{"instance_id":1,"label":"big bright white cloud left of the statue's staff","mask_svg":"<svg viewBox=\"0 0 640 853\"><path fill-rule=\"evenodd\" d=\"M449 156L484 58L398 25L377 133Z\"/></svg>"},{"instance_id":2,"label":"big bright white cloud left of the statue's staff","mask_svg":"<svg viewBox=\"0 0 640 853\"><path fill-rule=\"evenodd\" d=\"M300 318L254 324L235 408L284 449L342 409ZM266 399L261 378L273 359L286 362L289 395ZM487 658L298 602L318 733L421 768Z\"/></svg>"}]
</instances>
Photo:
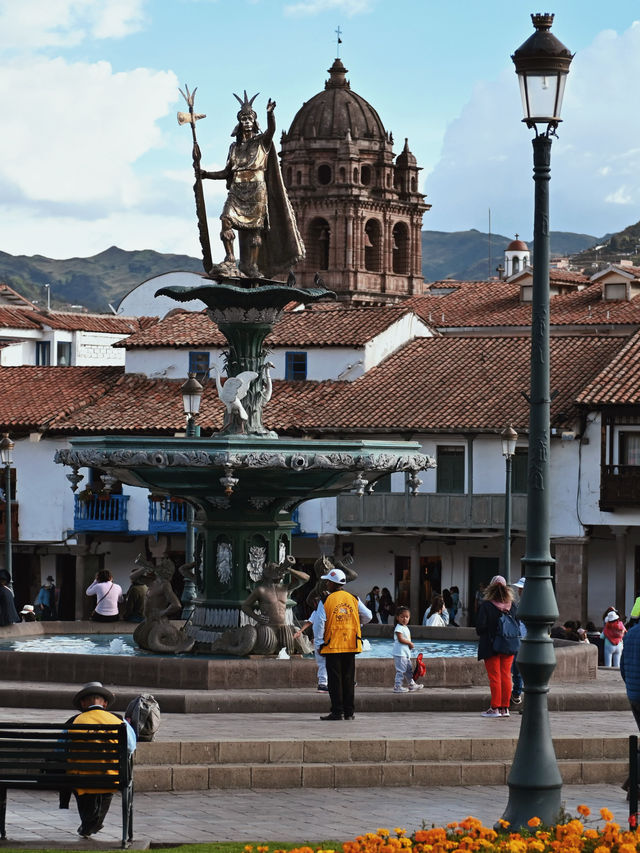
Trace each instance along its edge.
<instances>
[{"instance_id":1,"label":"big bright white cloud left of the statue's staff","mask_svg":"<svg viewBox=\"0 0 640 853\"><path fill-rule=\"evenodd\" d=\"M132 165L161 144L156 122L176 93L171 72L114 73L107 62L61 58L5 63L0 182L25 204L134 204L139 192Z\"/></svg>"}]
</instances>

